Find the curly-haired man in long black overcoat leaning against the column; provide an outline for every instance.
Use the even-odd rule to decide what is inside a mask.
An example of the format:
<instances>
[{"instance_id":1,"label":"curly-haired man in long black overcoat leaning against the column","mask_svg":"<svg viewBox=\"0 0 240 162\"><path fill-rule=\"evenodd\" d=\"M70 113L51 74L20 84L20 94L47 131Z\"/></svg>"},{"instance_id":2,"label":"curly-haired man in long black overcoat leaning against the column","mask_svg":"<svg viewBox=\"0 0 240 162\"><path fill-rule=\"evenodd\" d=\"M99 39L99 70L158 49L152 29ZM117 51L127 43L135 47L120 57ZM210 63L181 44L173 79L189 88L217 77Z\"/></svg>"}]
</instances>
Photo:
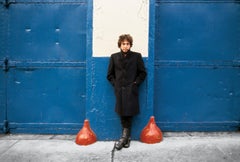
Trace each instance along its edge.
<instances>
[{"instance_id":1,"label":"curly-haired man in long black overcoat leaning against the column","mask_svg":"<svg viewBox=\"0 0 240 162\"><path fill-rule=\"evenodd\" d=\"M131 51L133 39L129 34L119 36L120 52L110 57L107 79L114 87L115 111L120 116L122 137L116 149L130 146L132 117L139 113L138 87L147 73L140 53Z\"/></svg>"}]
</instances>

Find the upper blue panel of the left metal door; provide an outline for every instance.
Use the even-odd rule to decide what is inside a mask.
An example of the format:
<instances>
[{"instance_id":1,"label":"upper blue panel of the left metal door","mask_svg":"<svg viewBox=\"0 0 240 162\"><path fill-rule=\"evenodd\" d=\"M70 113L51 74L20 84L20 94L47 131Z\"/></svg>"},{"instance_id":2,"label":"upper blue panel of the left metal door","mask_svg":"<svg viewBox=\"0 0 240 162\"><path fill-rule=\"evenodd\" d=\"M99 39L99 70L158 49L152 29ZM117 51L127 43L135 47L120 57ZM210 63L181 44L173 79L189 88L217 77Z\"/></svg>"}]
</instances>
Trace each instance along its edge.
<instances>
[{"instance_id":1,"label":"upper blue panel of the left metal door","mask_svg":"<svg viewBox=\"0 0 240 162\"><path fill-rule=\"evenodd\" d=\"M85 61L86 4L15 4L9 12L14 60Z\"/></svg>"}]
</instances>

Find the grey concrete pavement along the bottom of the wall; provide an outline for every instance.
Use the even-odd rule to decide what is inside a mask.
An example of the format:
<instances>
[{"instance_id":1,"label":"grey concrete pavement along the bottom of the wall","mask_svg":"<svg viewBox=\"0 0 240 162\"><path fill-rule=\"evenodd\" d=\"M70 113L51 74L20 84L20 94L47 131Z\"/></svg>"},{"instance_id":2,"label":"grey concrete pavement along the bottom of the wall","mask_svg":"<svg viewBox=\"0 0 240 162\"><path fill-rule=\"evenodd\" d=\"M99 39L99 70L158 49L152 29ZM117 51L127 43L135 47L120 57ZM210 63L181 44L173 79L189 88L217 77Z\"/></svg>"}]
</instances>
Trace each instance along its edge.
<instances>
[{"instance_id":1,"label":"grey concrete pavement along the bottom of the wall","mask_svg":"<svg viewBox=\"0 0 240 162\"><path fill-rule=\"evenodd\" d=\"M240 132L164 133L163 141L132 141L115 151L114 141L75 144L75 135L0 135L0 162L239 162Z\"/></svg>"}]
</instances>

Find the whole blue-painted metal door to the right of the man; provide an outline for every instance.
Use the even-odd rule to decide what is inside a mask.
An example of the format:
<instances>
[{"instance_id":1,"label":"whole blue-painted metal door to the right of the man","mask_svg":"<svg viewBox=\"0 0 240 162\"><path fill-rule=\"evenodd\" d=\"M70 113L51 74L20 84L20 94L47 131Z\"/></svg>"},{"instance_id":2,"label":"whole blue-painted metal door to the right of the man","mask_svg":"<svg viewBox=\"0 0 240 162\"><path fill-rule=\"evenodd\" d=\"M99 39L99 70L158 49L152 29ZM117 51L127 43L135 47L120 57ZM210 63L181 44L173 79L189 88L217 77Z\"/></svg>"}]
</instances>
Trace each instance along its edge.
<instances>
[{"instance_id":1,"label":"whole blue-painted metal door to the right of the man","mask_svg":"<svg viewBox=\"0 0 240 162\"><path fill-rule=\"evenodd\" d=\"M164 131L238 130L240 3L155 3L154 114Z\"/></svg>"}]
</instances>

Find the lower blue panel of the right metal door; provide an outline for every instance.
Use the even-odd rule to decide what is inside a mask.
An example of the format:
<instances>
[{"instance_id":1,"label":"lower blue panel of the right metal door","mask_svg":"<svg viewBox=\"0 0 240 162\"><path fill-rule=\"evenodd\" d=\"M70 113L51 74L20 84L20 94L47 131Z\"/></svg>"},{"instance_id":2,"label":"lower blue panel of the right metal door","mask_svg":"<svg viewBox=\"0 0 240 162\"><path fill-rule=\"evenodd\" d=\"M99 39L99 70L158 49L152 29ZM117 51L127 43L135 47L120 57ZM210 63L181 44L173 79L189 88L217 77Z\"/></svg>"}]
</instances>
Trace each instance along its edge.
<instances>
[{"instance_id":1,"label":"lower blue panel of the right metal door","mask_svg":"<svg viewBox=\"0 0 240 162\"><path fill-rule=\"evenodd\" d=\"M167 68L156 71L156 120L164 124L238 123L239 69ZM224 74L224 75L222 75ZM163 125L162 125L163 124ZM181 125L182 124L182 125ZM237 129L238 125L235 125ZM167 129L167 128L166 128ZM179 129L176 127L175 129ZM188 129L188 125L185 126ZM202 128L203 129L203 128ZM224 128L222 129L229 129Z\"/></svg>"}]
</instances>

